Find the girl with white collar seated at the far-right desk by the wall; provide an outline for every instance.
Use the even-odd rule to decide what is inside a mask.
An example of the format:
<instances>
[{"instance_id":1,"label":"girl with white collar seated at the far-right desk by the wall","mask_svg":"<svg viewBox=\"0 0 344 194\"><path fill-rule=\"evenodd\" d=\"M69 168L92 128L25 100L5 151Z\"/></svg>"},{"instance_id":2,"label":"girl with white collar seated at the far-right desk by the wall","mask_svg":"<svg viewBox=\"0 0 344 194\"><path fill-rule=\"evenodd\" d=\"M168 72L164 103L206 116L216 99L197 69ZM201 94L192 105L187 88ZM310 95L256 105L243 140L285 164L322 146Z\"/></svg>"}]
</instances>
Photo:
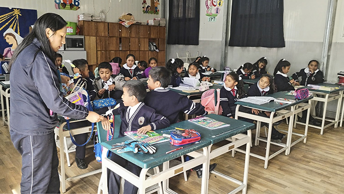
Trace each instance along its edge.
<instances>
[{"instance_id":1,"label":"girl with white collar seated at the far-right desk by the wall","mask_svg":"<svg viewBox=\"0 0 344 194\"><path fill-rule=\"evenodd\" d=\"M317 60L311 60L308 63L308 67L301 69L300 72L296 72L292 75L292 78L295 80L295 82L299 82L299 77L302 78L301 85L308 85L308 84L317 84L317 83L323 83L324 82L324 75L323 73L318 69L319 62ZM307 111L302 111L302 117L300 119L300 122L306 123L307 118ZM320 125L321 122L316 120L312 115L310 115L310 122L313 125Z\"/></svg>"}]
</instances>

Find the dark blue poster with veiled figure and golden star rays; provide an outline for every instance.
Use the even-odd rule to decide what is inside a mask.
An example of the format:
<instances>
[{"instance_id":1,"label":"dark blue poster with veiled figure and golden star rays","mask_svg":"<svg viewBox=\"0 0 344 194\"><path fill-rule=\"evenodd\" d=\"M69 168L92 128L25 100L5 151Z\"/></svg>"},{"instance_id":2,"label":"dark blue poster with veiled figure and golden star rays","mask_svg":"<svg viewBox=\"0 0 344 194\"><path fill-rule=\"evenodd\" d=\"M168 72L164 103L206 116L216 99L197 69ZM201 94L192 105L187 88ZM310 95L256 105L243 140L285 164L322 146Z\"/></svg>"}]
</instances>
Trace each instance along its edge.
<instances>
[{"instance_id":1,"label":"dark blue poster with veiled figure and golden star rays","mask_svg":"<svg viewBox=\"0 0 344 194\"><path fill-rule=\"evenodd\" d=\"M37 20L37 10L0 7L0 54L11 58Z\"/></svg>"}]
</instances>

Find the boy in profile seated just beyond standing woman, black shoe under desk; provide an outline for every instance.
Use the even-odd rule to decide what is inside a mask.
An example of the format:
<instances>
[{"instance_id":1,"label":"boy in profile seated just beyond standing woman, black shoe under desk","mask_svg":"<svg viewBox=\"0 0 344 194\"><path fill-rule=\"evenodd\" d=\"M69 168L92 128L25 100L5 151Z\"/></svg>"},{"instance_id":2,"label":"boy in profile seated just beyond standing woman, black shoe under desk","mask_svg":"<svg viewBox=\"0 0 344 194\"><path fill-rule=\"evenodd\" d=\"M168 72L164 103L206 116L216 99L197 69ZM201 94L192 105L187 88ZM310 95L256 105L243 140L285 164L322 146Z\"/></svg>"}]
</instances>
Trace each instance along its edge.
<instances>
[{"instance_id":1,"label":"boy in profile seated just beyond standing woman, black shoe under desk","mask_svg":"<svg viewBox=\"0 0 344 194\"><path fill-rule=\"evenodd\" d=\"M93 88L93 82L88 78L88 62L85 59L76 59L73 60L72 62L75 67L73 68L74 74L79 73L81 77L74 79L74 83L77 83L79 79L82 79L79 81L78 86L83 86L88 94L90 101L93 101L94 98L97 96L96 91ZM70 128L79 128L79 127L85 127L85 126L91 126L91 123L89 121L83 121L82 123L77 122L77 123L70 123ZM75 141L78 144L84 144L87 140L88 134L78 134L75 135ZM85 169L87 168L87 163L85 161L85 153L86 153L86 145L84 146L77 146L75 148L75 162L80 169Z\"/></svg>"}]
</instances>

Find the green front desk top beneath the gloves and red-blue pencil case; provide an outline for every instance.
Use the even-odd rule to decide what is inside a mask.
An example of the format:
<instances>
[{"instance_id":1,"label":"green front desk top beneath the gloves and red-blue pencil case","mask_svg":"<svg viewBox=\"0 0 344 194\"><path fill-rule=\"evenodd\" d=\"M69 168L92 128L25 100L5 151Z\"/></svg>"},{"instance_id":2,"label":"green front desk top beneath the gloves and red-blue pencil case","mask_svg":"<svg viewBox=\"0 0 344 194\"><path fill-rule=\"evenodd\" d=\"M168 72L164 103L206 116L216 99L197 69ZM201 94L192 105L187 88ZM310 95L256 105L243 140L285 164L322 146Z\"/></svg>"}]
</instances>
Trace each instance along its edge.
<instances>
[{"instance_id":1,"label":"green front desk top beneath the gloves and red-blue pencil case","mask_svg":"<svg viewBox=\"0 0 344 194\"><path fill-rule=\"evenodd\" d=\"M121 137L121 138L113 139L110 141L102 142L101 145L111 150L113 144L124 142L125 140L128 140L128 139L130 138ZM176 149L180 146L174 146L169 141L154 144L153 146L156 147L156 153L154 154L139 154L139 153L134 154L133 152L124 152L124 153L118 154L115 150L111 150L111 151L121 156L122 158L134 163L137 166L140 166L142 168L150 168L150 167L161 165L166 161L170 161L174 158L178 158L192 151L201 149L205 146L210 145L210 143L211 142L209 139L205 139L201 137L201 141L199 141L198 143L183 145L182 149L171 152L170 154L166 154L166 152Z\"/></svg>"}]
</instances>

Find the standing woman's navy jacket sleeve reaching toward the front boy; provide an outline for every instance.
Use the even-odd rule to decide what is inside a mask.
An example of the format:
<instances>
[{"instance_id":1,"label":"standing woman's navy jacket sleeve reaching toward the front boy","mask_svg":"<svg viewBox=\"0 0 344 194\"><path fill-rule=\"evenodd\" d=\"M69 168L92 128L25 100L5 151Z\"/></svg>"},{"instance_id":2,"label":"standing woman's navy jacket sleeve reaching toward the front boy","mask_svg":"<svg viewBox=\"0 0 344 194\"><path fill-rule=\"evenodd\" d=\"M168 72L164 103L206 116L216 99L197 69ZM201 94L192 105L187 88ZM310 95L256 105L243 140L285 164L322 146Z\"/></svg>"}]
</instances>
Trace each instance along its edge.
<instances>
[{"instance_id":1,"label":"standing woman's navy jacket sleeve reaching toward the front boy","mask_svg":"<svg viewBox=\"0 0 344 194\"><path fill-rule=\"evenodd\" d=\"M55 64L47 56L43 55L43 53L37 55L36 62L31 67L31 79L48 109L75 119L86 118L88 115L86 107L69 102L59 91L59 80Z\"/></svg>"}]
</instances>

